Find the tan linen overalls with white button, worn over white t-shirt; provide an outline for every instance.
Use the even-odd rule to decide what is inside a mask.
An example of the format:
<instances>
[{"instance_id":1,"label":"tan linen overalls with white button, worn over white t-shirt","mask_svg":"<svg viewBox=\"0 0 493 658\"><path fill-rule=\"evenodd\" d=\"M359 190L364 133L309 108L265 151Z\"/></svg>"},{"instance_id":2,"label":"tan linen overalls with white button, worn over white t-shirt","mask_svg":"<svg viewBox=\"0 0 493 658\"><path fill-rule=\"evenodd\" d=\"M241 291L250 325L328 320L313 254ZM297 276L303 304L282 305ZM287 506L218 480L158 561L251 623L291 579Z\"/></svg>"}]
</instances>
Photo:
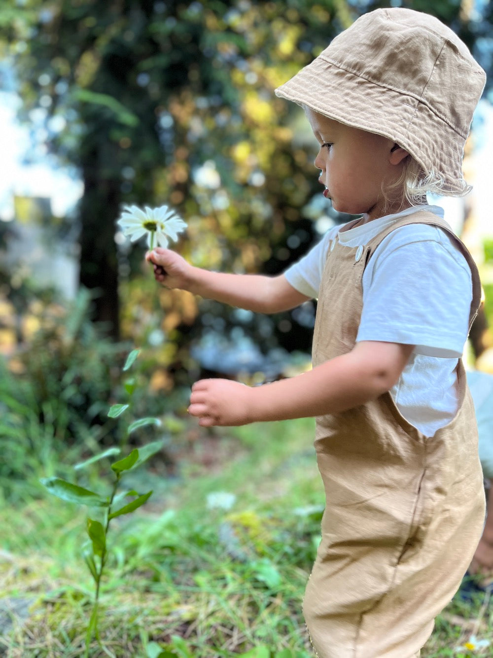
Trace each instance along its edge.
<instances>
[{"instance_id":1,"label":"tan linen overalls with white button, worn over white t-shirt","mask_svg":"<svg viewBox=\"0 0 493 658\"><path fill-rule=\"evenodd\" d=\"M396 220L363 248L331 243L319 292L314 366L354 347L365 265L385 236L413 223L450 232L423 211ZM473 273L472 322L479 275L455 239ZM432 438L402 417L390 393L316 419L326 507L303 611L319 658L419 656L434 617L458 590L481 536L485 501L461 361L457 372L459 411Z\"/></svg>"}]
</instances>

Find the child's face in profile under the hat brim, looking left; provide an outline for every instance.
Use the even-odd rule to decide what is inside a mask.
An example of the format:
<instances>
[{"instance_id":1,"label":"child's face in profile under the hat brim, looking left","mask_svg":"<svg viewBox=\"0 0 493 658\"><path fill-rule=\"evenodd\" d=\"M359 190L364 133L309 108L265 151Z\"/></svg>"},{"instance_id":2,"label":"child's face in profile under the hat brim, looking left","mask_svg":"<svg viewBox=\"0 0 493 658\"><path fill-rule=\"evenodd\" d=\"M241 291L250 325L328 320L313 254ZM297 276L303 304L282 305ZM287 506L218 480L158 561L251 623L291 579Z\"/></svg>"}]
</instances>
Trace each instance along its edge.
<instances>
[{"instance_id":1,"label":"child's face in profile under the hat brim, looking left","mask_svg":"<svg viewBox=\"0 0 493 658\"><path fill-rule=\"evenodd\" d=\"M396 152L391 152L394 142L309 108L305 111L320 145L315 166L321 169L324 196L339 213L363 213L367 220L381 217L385 205L382 186L400 174Z\"/></svg>"}]
</instances>

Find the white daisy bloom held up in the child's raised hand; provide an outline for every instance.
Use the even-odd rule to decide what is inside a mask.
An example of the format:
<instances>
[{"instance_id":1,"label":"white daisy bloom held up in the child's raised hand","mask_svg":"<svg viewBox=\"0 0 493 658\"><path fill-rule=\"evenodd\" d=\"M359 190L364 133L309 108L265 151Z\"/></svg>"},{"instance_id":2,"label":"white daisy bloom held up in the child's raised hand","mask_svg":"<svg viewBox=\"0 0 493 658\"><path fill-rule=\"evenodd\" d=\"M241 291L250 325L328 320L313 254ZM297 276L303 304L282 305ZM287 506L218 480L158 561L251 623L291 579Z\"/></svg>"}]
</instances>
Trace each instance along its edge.
<instances>
[{"instance_id":1,"label":"white daisy bloom held up in the child's raised hand","mask_svg":"<svg viewBox=\"0 0 493 658\"><path fill-rule=\"evenodd\" d=\"M166 205L158 208L146 206L144 210L136 205L124 206L117 223L132 242L147 236L149 249L153 249L154 243L168 247L168 238L177 240L178 234L187 228L183 219Z\"/></svg>"}]
</instances>

